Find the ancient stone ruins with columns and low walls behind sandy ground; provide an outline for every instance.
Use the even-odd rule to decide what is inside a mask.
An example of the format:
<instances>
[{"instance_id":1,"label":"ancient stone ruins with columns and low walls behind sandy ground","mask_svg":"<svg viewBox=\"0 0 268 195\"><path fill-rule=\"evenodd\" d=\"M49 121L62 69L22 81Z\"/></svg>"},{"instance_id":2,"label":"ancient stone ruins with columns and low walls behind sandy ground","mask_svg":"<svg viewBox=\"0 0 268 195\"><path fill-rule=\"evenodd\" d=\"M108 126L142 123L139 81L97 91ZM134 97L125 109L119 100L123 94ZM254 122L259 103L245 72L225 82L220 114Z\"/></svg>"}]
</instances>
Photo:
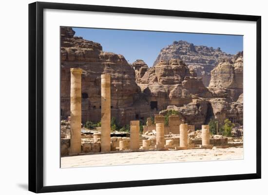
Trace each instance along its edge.
<instances>
[{"instance_id":1,"label":"ancient stone ruins with columns and low walls behind sandy ground","mask_svg":"<svg viewBox=\"0 0 268 195\"><path fill-rule=\"evenodd\" d=\"M209 125L202 125L201 143L196 144L191 139L191 133L196 132L194 125L186 124L178 115L169 116L168 126L164 124L163 115L156 114L154 124L151 118L148 118L147 124L143 126L142 135L139 121L131 121L129 137L111 137L111 77L107 73L101 75L101 132L94 133L93 138L92 136L85 137L93 142L84 142L81 133L81 72L79 68L70 70L71 132L70 139L61 141L62 156L111 151L186 150L213 147ZM220 140L220 146L229 147L227 139L222 141L219 138L218 140Z\"/></svg>"}]
</instances>

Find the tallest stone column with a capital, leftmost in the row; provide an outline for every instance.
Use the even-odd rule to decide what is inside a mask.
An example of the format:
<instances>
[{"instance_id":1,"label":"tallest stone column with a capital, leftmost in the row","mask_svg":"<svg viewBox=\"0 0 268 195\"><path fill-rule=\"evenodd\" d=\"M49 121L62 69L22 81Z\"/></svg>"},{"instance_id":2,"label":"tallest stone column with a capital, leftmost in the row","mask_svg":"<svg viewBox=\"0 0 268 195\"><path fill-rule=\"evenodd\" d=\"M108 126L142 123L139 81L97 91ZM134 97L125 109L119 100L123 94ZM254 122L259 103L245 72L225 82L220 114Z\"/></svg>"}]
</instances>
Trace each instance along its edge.
<instances>
[{"instance_id":1,"label":"tallest stone column with a capital, leftmost in the row","mask_svg":"<svg viewBox=\"0 0 268 195\"><path fill-rule=\"evenodd\" d=\"M71 69L70 154L81 152L81 69Z\"/></svg>"}]
</instances>

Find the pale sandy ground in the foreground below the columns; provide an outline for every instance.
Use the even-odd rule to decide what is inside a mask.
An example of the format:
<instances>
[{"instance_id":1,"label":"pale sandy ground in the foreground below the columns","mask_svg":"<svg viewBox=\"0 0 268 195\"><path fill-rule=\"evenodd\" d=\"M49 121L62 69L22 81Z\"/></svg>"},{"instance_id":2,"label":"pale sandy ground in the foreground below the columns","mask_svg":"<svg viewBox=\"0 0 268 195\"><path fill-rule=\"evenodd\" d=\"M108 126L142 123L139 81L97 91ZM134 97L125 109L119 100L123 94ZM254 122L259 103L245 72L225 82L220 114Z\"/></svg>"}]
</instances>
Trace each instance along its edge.
<instances>
[{"instance_id":1,"label":"pale sandy ground in the foreground below the columns","mask_svg":"<svg viewBox=\"0 0 268 195\"><path fill-rule=\"evenodd\" d=\"M243 159L243 147L81 155L61 158L61 168Z\"/></svg>"}]
</instances>

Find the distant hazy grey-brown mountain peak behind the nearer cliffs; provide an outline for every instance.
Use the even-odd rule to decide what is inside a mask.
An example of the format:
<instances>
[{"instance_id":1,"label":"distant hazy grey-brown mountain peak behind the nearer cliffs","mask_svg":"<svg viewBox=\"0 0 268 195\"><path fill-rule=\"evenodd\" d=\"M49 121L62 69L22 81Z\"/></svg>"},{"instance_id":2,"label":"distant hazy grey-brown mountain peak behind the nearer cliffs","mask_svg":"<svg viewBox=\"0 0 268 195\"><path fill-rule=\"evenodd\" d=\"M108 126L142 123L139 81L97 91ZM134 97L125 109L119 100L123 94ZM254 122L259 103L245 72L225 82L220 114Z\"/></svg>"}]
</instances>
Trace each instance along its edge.
<instances>
[{"instance_id":1,"label":"distant hazy grey-brown mountain peak behind the nearer cliffs","mask_svg":"<svg viewBox=\"0 0 268 195\"><path fill-rule=\"evenodd\" d=\"M174 41L172 45L163 48L153 66L161 60L181 59L184 63L192 68L197 76L202 77L204 85L210 84L211 70L221 59L232 59L234 55L221 51L220 48L214 49L207 46L196 46L187 41Z\"/></svg>"}]
</instances>

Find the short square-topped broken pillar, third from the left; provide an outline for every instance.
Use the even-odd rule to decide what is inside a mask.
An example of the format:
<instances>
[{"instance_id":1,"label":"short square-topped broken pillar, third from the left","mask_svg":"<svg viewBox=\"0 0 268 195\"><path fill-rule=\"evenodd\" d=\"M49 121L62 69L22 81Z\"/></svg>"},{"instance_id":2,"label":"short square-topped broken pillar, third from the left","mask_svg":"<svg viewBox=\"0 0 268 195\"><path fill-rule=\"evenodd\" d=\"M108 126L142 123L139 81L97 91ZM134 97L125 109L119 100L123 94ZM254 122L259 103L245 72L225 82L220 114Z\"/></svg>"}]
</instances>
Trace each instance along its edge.
<instances>
[{"instance_id":1,"label":"short square-topped broken pillar, third from the left","mask_svg":"<svg viewBox=\"0 0 268 195\"><path fill-rule=\"evenodd\" d=\"M139 121L130 122L130 149L139 149Z\"/></svg>"}]
</instances>

